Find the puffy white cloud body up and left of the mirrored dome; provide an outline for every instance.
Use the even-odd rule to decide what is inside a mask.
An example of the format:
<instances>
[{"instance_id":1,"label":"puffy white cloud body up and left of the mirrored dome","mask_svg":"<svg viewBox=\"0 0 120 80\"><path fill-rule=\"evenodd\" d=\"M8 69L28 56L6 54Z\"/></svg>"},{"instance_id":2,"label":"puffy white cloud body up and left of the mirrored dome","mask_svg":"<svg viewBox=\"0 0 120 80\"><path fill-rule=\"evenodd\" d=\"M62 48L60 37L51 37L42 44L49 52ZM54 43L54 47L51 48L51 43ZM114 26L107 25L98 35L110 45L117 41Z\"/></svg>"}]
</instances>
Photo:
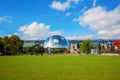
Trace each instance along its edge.
<instances>
[{"instance_id":1,"label":"puffy white cloud body up and left of the mirrored dome","mask_svg":"<svg viewBox=\"0 0 120 80\"><path fill-rule=\"evenodd\" d=\"M48 35L49 28L50 26L44 23L33 22L29 25L21 26L18 31L23 33L24 38L36 38Z\"/></svg>"}]
</instances>

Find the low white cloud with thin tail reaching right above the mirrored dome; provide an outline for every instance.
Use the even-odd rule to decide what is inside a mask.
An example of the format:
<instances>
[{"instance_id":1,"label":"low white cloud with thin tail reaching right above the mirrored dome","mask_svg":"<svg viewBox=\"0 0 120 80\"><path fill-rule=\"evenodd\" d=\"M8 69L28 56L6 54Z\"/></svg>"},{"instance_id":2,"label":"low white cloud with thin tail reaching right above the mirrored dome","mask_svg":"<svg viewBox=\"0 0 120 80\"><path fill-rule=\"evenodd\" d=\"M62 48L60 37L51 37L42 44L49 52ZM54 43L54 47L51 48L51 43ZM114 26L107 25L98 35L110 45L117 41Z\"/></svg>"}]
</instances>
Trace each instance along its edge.
<instances>
[{"instance_id":1,"label":"low white cloud with thin tail reaching right above the mirrored dome","mask_svg":"<svg viewBox=\"0 0 120 80\"><path fill-rule=\"evenodd\" d=\"M21 36L25 40L36 40L45 39L50 35L62 35L62 32L59 30L50 31L50 25L33 22L29 25L19 27L18 32L14 34Z\"/></svg>"}]
</instances>

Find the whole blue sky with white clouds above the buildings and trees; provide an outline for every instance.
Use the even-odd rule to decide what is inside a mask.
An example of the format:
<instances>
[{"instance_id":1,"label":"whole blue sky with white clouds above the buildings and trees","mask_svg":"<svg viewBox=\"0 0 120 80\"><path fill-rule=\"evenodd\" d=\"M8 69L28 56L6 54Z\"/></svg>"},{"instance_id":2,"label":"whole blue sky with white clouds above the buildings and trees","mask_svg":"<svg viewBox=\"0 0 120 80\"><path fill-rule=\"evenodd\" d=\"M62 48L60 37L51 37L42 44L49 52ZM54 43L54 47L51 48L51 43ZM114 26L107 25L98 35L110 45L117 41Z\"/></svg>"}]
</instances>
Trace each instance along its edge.
<instances>
[{"instance_id":1,"label":"whole blue sky with white clouds above the buildings and trees","mask_svg":"<svg viewBox=\"0 0 120 80\"><path fill-rule=\"evenodd\" d=\"M120 39L120 0L0 0L0 36Z\"/></svg>"}]
</instances>

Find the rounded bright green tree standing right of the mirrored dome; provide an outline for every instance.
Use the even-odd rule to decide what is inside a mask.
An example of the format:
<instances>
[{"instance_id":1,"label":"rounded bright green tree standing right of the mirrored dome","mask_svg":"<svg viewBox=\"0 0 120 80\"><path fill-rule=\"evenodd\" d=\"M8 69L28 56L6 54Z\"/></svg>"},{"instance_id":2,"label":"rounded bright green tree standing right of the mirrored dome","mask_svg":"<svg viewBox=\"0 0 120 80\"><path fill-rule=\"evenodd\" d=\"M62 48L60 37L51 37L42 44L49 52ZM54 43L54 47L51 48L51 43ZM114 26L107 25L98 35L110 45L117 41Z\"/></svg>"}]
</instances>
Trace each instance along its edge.
<instances>
[{"instance_id":1,"label":"rounded bright green tree standing right of the mirrored dome","mask_svg":"<svg viewBox=\"0 0 120 80\"><path fill-rule=\"evenodd\" d=\"M83 51L83 52L89 53L91 48L92 48L92 43L91 43L91 41L89 39L83 41L80 44L80 50Z\"/></svg>"}]
</instances>

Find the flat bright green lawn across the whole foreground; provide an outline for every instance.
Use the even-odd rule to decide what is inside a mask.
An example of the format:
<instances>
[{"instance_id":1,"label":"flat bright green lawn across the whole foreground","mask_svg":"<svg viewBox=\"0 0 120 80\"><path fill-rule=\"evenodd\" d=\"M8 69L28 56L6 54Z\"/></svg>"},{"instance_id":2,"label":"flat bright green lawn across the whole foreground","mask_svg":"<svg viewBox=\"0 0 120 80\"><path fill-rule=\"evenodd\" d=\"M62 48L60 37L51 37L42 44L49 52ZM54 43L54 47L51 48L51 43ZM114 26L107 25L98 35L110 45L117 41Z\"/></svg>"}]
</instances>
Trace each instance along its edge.
<instances>
[{"instance_id":1,"label":"flat bright green lawn across the whole foreground","mask_svg":"<svg viewBox=\"0 0 120 80\"><path fill-rule=\"evenodd\" d=\"M120 56L0 56L0 80L120 80Z\"/></svg>"}]
</instances>

